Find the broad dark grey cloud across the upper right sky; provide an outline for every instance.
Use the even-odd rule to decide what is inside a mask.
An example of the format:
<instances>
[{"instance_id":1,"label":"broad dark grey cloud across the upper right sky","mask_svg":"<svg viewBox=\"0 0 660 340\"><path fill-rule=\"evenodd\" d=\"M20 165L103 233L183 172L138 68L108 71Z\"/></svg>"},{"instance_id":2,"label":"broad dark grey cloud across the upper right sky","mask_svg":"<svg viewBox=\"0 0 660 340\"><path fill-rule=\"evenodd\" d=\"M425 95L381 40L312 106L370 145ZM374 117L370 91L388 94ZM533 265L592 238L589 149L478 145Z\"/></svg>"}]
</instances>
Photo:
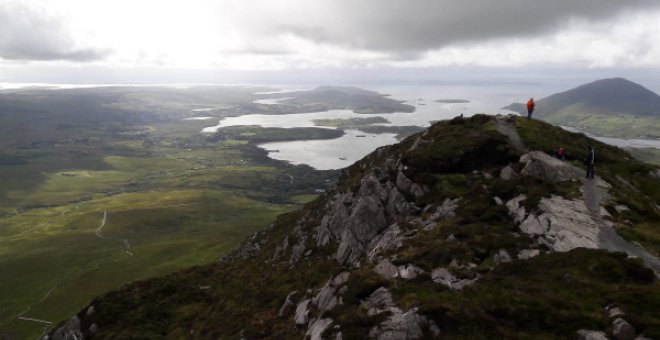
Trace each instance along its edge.
<instances>
[{"instance_id":1,"label":"broad dark grey cloud across the upper right sky","mask_svg":"<svg viewBox=\"0 0 660 340\"><path fill-rule=\"evenodd\" d=\"M326 0L296 1L286 9L290 15L264 13L260 19L276 31L316 42L410 53L538 36L561 30L572 19L607 21L657 8L658 0Z\"/></svg>"}]
</instances>

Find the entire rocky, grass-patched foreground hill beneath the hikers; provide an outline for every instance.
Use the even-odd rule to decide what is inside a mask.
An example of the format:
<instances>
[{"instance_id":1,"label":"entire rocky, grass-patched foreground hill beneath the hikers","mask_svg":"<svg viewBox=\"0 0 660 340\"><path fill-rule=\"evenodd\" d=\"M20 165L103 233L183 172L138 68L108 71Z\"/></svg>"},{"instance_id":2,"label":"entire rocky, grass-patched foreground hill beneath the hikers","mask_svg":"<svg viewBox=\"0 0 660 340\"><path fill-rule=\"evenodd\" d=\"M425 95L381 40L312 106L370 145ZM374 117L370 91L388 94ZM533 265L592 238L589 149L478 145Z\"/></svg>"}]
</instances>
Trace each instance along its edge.
<instances>
[{"instance_id":1,"label":"entire rocky, grass-patched foreground hill beneath the hikers","mask_svg":"<svg viewBox=\"0 0 660 340\"><path fill-rule=\"evenodd\" d=\"M657 173L540 121L439 122L217 263L98 297L48 339L660 338Z\"/></svg>"}]
</instances>

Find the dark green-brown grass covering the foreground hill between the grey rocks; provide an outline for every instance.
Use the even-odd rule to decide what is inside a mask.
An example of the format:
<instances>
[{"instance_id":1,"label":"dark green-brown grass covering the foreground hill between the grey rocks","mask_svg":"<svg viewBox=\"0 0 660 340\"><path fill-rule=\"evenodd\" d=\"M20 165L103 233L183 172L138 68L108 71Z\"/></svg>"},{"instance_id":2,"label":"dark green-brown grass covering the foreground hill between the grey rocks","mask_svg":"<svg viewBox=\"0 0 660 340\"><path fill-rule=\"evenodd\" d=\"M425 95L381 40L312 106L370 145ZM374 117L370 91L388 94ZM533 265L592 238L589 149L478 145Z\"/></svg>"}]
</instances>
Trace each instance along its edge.
<instances>
[{"instance_id":1,"label":"dark green-brown grass covering the foreground hill between the grey rocks","mask_svg":"<svg viewBox=\"0 0 660 340\"><path fill-rule=\"evenodd\" d=\"M653 204L660 202L660 184L650 174L656 167L540 121L518 119L515 128L532 149L566 147L567 161L575 165L580 165L582 150L594 145L601 155L597 172L612 184L612 204L625 204L629 210L619 215L611 206L605 208L616 214L616 223L627 221L617 226L630 231L626 237L650 249L656 247L657 254L660 214ZM78 314L81 329L91 335L88 329L93 324L94 337L104 339L301 338L304 330L296 328L293 316L278 315L287 294L298 291L296 301L300 302L333 275L350 271L346 289L340 293L342 303L323 314L338 325L326 330L325 336L341 332L347 339L366 338L388 315L369 315L363 303L376 289L386 287L399 308L417 308L447 338L565 339L576 337L578 329L611 332L604 311L609 304L625 310L638 333L660 337L660 283L639 260L603 250L575 249L543 251L530 260L494 261L500 250L516 254L534 240L518 231L507 209L493 197L506 201L524 193L533 208L550 195L580 195L573 182L499 178L499 171L520 154L496 131L493 118L478 115L437 123L347 168L334 191L279 216L273 226L224 261L136 282L94 299L90 303L94 313L87 314L85 307ZM407 197L420 210L399 223L409 236L400 248L386 254L394 265L414 263L425 271L410 280L385 279L374 272L375 263L364 258L359 265L342 266L332 257L336 242L318 246L310 238L336 195L361 192L365 176L386 181L393 176L383 172L388 169L386 163L397 159L406 165L406 176L428 187L421 196ZM431 214L422 208L457 197L461 200L455 216L430 229L416 222ZM291 262L294 250L281 251L285 242L306 245L305 255ZM462 279L478 281L463 290L449 289L430 280L431 270L438 266ZM423 332L432 336L430 328Z\"/></svg>"}]
</instances>

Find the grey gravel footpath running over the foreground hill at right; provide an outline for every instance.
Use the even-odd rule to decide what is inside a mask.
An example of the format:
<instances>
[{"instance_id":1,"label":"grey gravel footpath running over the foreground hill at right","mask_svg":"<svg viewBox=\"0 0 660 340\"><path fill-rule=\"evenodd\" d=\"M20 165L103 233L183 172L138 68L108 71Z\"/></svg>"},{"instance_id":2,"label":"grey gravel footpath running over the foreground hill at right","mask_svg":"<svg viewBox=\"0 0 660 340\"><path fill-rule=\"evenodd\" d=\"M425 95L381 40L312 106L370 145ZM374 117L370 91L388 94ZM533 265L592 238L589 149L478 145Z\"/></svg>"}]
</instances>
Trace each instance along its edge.
<instances>
[{"instance_id":1,"label":"grey gravel footpath running over the foreground hill at right","mask_svg":"<svg viewBox=\"0 0 660 340\"><path fill-rule=\"evenodd\" d=\"M529 152L527 146L520 139L518 131L516 131L515 122L509 120L507 117L498 117L495 119L495 128L501 134L509 137L511 144L521 152ZM568 164L568 163L567 163ZM568 164L571 170L582 178L585 175L585 170L576 166ZM612 223L604 220L601 214L601 203L607 199L607 190L609 185L604 182L600 177L592 180L582 179L582 193L584 203L589 209L589 213L594 221L599 225L598 244L600 248L609 251L624 252L629 256L640 258L644 264L653 269L656 276L660 277L660 260L648 253L643 248L640 248L621 237Z\"/></svg>"}]
</instances>

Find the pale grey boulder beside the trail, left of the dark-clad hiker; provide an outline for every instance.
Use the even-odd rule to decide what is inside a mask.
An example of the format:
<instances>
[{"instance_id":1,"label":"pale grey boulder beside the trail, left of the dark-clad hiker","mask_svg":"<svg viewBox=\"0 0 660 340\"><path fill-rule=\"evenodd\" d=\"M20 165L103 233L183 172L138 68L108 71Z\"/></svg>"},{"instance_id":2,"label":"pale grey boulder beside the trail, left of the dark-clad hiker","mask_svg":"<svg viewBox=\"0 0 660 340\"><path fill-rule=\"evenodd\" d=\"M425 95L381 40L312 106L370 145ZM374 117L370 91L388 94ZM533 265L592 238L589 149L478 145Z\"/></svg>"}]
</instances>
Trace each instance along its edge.
<instances>
[{"instance_id":1,"label":"pale grey boulder beside the trail, left of the dark-clad hiker","mask_svg":"<svg viewBox=\"0 0 660 340\"><path fill-rule=\"evenodd\" d=\"M525 163L525 167L520 171L520 174L525 176L551 183L579 180L569 165L543 151L530 151L520 157L520 162Z\"/></svg>"}]
</instances>

